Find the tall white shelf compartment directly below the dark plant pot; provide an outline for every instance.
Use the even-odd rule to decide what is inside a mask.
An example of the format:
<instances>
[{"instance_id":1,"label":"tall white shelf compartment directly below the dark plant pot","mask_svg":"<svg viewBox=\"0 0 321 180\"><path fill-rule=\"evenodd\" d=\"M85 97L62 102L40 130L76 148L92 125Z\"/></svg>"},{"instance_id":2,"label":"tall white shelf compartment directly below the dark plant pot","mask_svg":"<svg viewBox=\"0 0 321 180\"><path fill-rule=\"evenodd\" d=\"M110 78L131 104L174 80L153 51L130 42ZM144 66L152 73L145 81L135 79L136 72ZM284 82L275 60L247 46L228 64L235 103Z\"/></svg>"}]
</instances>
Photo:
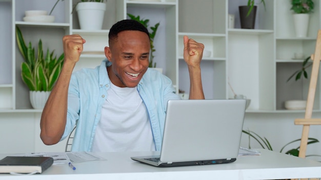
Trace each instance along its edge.
<instances>
[{"instance_id":1,"label":"tall white shelf compartment directly below the dark plant pot","mask_svg":"<svg viewBox=\"0 0 321 180\"><path fill-rule=\"evenodd\" d=\"M251 110L274 110L273 34L231 34L228 41L228 78L234 92L251 99ZM230 88L228 98L234 98Z\"/></svg>"}]
</instances>

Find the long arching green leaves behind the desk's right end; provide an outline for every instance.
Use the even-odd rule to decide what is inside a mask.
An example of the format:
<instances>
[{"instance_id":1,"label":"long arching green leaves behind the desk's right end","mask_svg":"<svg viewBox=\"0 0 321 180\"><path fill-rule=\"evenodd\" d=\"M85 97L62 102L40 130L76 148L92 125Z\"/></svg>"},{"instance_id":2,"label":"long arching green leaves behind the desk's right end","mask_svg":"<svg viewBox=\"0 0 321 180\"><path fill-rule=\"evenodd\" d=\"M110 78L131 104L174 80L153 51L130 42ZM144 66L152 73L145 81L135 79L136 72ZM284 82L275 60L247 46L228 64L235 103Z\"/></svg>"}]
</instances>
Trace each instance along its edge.
<instances>
[{"instance_id":1,"label":"long arching green leaves behind the desk's right end","mask_svg":"<svg viewBox=\"0 0 321 180\"><path fill-rule=\"evenodd\" d=\"M248 148L251 148L251 139L254 139L263 149L268 149L268 150L273 150L270 142L264 137L260 137L257 133L251 131L251 130L242 130L243 133L245 134L248 134L248 138L249 138L249 147ZM301 139L297 139L297 140L294 140L294 141L291 141L289 143L287 143L286 145L284 145L281 150L279 152L283 152L283 150L286 148L286 146L292 144L292 143L295 143L295 142L299 142L301 141ZM319 141L315 138L308 138L308 145L309 144L314 144L314 143L318 143ZM291 154L291 155L294 155L294 156L298 156L299 155L299 148L300 146L298 146L297 148L293 148L293 149L290 149L288 151L286 151L285 153L286 154ZM306 155L306 156L321 156L321 155L315 155L315 154L312 154L312 155Z\"/></svg>"}]
</instances>

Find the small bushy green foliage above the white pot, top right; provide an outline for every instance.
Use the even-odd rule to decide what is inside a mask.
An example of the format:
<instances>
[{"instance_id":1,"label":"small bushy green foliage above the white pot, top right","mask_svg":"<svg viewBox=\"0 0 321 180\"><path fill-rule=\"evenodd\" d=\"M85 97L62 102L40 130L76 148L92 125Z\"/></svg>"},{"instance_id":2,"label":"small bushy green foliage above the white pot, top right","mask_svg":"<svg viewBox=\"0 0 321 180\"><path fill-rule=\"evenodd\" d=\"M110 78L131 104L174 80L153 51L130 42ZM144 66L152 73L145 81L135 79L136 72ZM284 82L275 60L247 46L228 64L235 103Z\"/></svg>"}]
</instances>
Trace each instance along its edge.
<instances>
[{"instance_id":1,"label":"small bushy green foliage above the white pot, top right","mask_svg":"<svg viewBox=\"0 0 321 180\"><path fill-rule=\"evenodd\" d=\"M296 14L312 13L314 3L312 0L292 0L291 9Z\"/></svg>"}]
</instances>

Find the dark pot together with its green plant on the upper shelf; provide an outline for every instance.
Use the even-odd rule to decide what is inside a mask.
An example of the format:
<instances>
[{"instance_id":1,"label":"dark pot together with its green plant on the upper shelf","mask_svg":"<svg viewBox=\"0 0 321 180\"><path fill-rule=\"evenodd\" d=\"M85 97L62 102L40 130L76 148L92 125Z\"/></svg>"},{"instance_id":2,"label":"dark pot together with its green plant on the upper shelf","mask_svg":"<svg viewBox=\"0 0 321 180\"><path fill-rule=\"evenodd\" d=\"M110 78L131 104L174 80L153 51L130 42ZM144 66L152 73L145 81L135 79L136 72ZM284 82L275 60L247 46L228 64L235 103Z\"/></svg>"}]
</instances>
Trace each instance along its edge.
<instances>
[{"instance_id":1,"label":"dark pot together with its green plant on the upper shelf","mask_svg":"<svg viewBox=\"0 0 321 180\"><path fill-rule=\"evenodd\" d=\"M265 8L265 1L261 0ZM254 6L254 0L248 0L246 6L239 6L239 18L242 29L254 29L257 6Z\"/></svg>"}]
</instances>

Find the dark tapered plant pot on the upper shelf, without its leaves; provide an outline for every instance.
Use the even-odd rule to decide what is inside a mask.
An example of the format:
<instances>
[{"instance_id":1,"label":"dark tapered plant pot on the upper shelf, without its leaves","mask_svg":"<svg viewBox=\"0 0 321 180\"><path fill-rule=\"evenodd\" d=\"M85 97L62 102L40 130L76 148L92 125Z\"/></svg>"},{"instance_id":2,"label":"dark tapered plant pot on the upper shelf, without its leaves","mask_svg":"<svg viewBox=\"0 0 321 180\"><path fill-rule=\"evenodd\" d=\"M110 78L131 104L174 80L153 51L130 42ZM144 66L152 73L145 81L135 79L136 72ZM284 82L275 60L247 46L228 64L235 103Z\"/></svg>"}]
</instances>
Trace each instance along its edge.
<instances>
[{"instance_id":1,"label":"dark tapered plant pot on the upper shelf, without its leaves","mask_svg":"<svg viewBox=\"0 0 321 180\"><path fill-rule=\"evenodd\" d=\"M250 7L239 6L239 18L242 29L254 29L257 6L254 6L249 16L246 16Z\"/></svg>"}]
</instances>

